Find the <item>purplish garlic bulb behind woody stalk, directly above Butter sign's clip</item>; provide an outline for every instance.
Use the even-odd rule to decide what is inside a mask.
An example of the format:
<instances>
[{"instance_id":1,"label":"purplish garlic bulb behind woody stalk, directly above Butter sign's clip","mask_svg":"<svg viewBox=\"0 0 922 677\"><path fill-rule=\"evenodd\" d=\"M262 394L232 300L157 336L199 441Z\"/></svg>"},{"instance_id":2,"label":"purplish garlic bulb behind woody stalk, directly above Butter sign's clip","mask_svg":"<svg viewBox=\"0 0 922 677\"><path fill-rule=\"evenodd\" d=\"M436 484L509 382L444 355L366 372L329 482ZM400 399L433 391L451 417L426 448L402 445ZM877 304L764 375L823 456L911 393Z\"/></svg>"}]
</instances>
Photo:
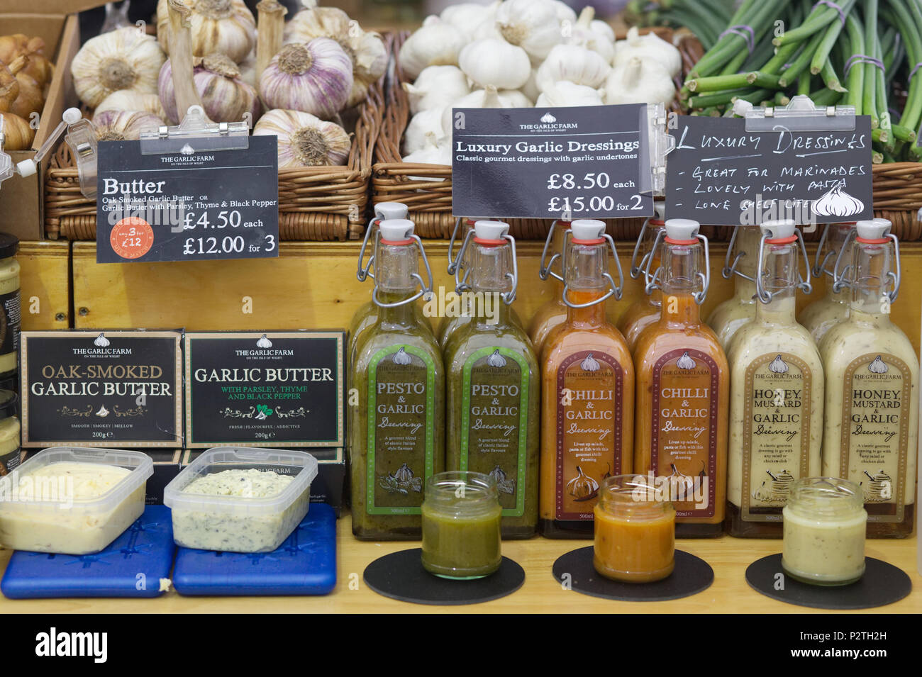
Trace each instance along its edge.
<instances>
[{"instance_id":1,"label":"purplish garlic bulb behind woody stalk, directly above Butter sign's clip","mask_svg":"<svg viewBox=\"0 0 922 677\"><path fill-rule=\"evenodd\" d=\"M231 59L224 54L208 54L195 57L193 63L195 68L192 78L208 119L216 123L236 123L247 112L252 120L259 116L260 104L256 90L242 81L240 68ZM158 88L167 118L174 123L179 122L181 116L176 110L170 59L160 68Z\"/></svg>"}]
</instances>

